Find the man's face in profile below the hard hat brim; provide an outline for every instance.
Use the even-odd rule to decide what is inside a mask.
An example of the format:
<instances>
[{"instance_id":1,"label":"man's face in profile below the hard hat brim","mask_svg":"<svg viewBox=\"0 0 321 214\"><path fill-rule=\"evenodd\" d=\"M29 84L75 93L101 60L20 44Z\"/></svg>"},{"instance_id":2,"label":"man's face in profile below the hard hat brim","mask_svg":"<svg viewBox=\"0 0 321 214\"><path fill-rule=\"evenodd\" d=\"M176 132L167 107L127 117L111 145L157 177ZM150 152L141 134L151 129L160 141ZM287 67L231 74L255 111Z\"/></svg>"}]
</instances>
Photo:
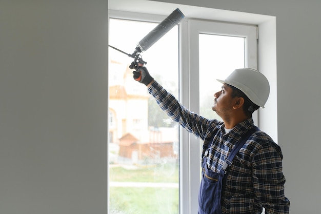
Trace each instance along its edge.
<instances>
[{"instance_id":1,"label":"man's face in profile below the hard hat brim","mask_svg":"<svg viewBox=\"0 0 321 214\"><path fill-rule=\"evenodd\" d=\"M232 88L227 84L223 84L222 90L214 93L214 103L212 110L215 111L221 118L229 115L235 105L237 97L232 98Z\"/></svg>"}]
</instances>

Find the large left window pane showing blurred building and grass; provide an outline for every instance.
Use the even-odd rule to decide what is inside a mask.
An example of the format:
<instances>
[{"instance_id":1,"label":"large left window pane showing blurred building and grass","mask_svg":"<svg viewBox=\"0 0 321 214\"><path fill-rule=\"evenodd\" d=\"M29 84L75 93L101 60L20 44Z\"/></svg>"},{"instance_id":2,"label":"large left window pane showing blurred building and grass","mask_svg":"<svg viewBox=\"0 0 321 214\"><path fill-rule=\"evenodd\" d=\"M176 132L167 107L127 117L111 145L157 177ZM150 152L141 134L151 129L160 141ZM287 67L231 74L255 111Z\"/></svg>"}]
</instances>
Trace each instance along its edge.
<instances>
[{"instance_id":1,"label":"large left window pane showing blurred building and grass","mask_svg":"<svg viewBox=\"0 0 321 214\"><path fill-rule=\"evenodd\" d=\"M111 18L109 44L132 54L156 25ZM142 56L150 74L177 97L178 27ZM132 61L109 48L109 212L178 214L178 126L132 79Z\"/></svg>"}]
</instances>

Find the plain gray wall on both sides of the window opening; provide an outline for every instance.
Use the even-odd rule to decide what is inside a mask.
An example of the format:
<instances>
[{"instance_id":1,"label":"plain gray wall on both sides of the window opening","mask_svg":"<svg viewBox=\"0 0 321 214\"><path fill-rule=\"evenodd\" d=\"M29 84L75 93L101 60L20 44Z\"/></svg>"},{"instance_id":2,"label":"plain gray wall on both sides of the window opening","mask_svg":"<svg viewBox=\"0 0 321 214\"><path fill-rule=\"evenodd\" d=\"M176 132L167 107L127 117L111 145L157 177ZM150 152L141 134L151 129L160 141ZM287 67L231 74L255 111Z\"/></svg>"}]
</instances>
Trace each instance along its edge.
<instances>
[{"instance_id":1,"label":"plain gray wall on both sides of the window opening","mask_svg":"<svg viewBox=\"0 0 321 214\"><path fill-rule=\"evenodd\" d=\"M276 16L286 195L320 213L321 2L171 2ZM1 213L106 213L107 3L1 1Z\"/></svg>"}]
</instances>

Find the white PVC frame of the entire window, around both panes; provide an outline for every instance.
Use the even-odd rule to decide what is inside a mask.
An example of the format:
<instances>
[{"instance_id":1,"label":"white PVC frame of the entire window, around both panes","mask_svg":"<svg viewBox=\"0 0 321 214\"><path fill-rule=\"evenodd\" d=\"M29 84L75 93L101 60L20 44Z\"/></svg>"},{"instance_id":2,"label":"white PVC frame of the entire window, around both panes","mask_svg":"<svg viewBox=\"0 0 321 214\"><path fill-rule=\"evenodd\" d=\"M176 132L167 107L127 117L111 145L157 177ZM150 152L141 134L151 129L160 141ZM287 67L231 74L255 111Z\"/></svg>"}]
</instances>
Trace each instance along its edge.
<instances>
[{"instance_id":1,"label":"white PVC frame of the entire window, around both panes","mask_svg":"<svg viewBox=\"0 0 321 214\"><path fill-rule=\"evenodd\" d=\"M166 16L109 10L109 18L133 21L161 22ZM131 32L129 32L130 34ZM214 21L189 20L179 23L179 100L199 112L198 94L198 34L243 36L247 39L246 66L257 68L257 27ZM192 59L192 60L191 60ZM197 90L195 90L197 89ZM257 123L257 115L254 115ZM199 140L180 128L180 214L197 213L199 177ZM108 152L108 151L107 151ZM109 161L108 161L109 162ZM109 166L108 166L109 167ZM107 184L108 185L108 184ZM109 202L109 198L108 198ZM107 202L107 203L108 203Z\"/></svg>"}]
</instances>

